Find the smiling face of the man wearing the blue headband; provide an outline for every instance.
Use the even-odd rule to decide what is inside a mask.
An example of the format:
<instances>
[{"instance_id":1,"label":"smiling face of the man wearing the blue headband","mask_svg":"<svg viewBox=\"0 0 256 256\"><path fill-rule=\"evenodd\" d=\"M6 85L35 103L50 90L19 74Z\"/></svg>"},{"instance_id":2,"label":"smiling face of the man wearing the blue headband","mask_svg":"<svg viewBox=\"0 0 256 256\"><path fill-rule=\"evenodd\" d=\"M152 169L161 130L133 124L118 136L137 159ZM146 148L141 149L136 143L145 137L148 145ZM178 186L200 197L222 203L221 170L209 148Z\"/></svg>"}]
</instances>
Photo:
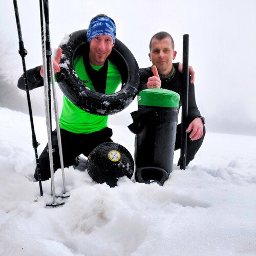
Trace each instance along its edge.
<instances>
[{"instance_id":1,"label":"smiling face of the man wearing the blue headband","mask_svg":"<svg viewBox=\"0 0 256 256\"><path fill-rule=\"evenodd\" d=\"M98 35L90 42L89 60L92 65L102 66L113 48L113 39L110 35Z\"/></svg>"}]
</instances>

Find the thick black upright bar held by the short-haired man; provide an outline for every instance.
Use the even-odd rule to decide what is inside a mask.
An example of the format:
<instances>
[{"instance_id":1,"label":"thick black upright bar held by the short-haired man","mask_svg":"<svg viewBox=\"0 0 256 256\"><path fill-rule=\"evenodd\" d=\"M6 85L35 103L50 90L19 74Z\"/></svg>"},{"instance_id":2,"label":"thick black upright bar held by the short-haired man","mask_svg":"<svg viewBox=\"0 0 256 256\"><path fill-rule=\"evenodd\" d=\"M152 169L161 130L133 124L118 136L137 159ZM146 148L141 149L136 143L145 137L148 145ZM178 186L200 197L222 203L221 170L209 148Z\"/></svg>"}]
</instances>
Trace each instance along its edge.
<instances>
[{"instance_id":1,"label":"thick black upright bar held by the short-haired man","mask_svg":"<svg viewBox=\"0 0 256 256\"><path fill-rule=\"evenodd\" d=\"M180 169L186 169L187 157L187 110L188 110L188 43L189 35L183 35L183 68L182 68L182 116L181 116L181 151Z\"/></svg>"}]
</instances>

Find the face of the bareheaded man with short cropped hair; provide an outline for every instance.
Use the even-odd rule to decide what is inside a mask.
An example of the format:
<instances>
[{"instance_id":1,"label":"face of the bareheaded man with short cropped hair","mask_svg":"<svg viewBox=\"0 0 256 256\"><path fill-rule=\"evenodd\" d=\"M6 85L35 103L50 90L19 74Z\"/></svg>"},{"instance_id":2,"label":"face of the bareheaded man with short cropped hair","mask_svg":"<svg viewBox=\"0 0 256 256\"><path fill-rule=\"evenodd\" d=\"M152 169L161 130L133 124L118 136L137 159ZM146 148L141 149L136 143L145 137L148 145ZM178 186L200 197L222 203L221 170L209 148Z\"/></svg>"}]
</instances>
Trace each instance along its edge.
<instances>
[{"instance_id":1,"label":"face of the bareheaded man with short cropped hair","mask_svg":"<svg viewBox=\"0 0 256 256\"><path fill-rule=\"evenodd\" d=\"M173 50L172 42L169 37L162 40L154 38L151 42L151 51L148 54L153 65L156 65L157 70L162 75L170 73L173 67L173 59L177 52Z\"/></svg>"}]
</instances>

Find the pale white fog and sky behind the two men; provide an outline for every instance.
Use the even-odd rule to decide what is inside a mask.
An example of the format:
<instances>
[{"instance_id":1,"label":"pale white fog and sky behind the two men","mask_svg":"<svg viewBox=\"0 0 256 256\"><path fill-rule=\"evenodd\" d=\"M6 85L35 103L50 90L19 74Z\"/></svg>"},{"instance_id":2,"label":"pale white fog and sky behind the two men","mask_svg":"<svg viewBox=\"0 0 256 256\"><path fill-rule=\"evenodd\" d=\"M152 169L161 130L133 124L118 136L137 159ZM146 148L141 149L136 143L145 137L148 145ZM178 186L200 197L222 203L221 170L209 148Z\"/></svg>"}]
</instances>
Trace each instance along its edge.
<instances>
[{"instance_id":1,"label":"pale white fog and sky behind the two men","mask_svg":"<svg viewBox=\"0 0 256 256\"><path fill-rule=\"evenodd\" d=\"M17 0L17 4L29 69L42 62L39 1ZM175 61L182 61L183 35L189 34L189 65L196 71L196 100L207 131L256 135L255 10L255 0L49 0L51 45L56 49L66 34L87 29L93 16L105 13L115 20L117 38L143 68L151 66L148 43L153 34L172 34L178 52ZM0 68L11 92L6 92L5 102L0 98L0 106L9 102L9 108L24 111L26 93L16 87L23 68L12 1L1 0L0 22ZM8 82L0 82L6 89ZM62 93L57 93L61 110ZM44 115L43 95L42 88L30 93L35 115ZM111 116L110 123L129 125L136 103Z\"/></svg>"}]
</instances>

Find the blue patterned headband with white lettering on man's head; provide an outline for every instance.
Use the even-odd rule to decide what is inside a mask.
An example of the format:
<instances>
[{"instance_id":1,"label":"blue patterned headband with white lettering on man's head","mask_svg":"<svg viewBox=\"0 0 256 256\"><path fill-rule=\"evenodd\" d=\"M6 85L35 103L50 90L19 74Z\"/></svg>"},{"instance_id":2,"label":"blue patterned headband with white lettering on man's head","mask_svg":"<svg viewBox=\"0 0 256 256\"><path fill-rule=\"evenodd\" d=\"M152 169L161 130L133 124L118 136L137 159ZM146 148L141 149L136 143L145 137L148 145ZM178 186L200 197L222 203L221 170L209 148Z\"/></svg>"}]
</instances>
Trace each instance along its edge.
<instances>
[{"instance_id":1,"label":"blue patterned headband with white lettering on man's head","mask_svg":"<svg viewBox=\"0 0 256 256\"><path fill-rule=\"evenodd\" d=\"M115 43L116 25L111 18L101 16L91 21L87 30L87 41L91 42L92 38L97 35L110 35Z\"/></svg>"}]
</instances>

